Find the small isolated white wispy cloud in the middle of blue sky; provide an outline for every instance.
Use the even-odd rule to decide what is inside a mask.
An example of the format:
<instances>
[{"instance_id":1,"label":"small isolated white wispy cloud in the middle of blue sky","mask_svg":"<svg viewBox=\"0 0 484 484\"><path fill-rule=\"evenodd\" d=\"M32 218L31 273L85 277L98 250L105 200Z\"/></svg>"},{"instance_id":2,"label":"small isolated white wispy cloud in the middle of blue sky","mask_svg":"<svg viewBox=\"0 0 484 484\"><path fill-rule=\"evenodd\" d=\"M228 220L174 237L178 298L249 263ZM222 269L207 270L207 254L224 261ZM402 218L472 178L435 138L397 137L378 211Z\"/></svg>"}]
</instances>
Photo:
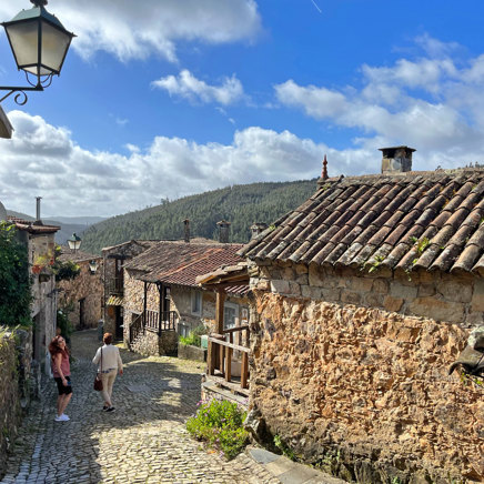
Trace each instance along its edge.
<instances>
[{"instance_id":1,"label":"small isolated white wispy cloud in the middle of blue sky","mask_svg":"<svg viewBox=\"0 0 484 484\"><path fill-rule=\"evenodd\" d=\"M184 69L179 77L168 75L153 81L153 88L165 90L170 95L179 95L190 101L203 103L216 102L229 105L243 98L243 87L235 75L225 78L221 85L210 85L196 79L189 70Z\"/></svg>"}]
</instances>

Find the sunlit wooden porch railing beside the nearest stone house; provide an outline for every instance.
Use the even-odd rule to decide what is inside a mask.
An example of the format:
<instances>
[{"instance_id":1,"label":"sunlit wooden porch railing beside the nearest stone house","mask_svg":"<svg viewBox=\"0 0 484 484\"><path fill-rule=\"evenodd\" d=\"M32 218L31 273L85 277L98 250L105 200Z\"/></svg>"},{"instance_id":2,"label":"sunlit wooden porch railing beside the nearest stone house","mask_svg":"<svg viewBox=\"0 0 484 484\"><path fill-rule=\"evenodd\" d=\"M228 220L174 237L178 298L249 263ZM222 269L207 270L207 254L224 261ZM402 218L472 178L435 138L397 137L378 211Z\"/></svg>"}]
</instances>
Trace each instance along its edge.
<instances>
[{"instance_id":1,"label":"sunlit wooden porch railing beside the nearest stone house","mask_svg":"<svg viewBox=\"0 0 484 484\"><path fill-rule=\"evenodd\" d=\"M240 386L249 387L249 353L248 346L233 343L233 336L238 332L246 331L245 344L249 345L249 326L232 327L224 330L223 334L211 334L209 336L209 352L206 355L208 373L215 375L220 372L226 382L232 382L232 355L234 351L242 356ZM242 334L242 333L241 333ZM229 335L229 341L225 341Z\"/></svg>"}]
</instances>

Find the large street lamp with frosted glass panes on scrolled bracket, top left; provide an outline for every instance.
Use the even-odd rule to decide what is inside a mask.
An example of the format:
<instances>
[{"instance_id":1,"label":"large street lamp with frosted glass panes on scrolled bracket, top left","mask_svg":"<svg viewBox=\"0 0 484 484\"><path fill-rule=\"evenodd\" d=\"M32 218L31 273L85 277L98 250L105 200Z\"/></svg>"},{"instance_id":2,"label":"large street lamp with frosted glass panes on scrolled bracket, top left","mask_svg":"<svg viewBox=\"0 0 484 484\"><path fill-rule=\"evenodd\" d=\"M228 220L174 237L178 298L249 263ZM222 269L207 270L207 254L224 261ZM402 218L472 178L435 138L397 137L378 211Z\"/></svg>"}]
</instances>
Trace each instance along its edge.
<instances>
[{"instance_id":1,"label":"large street lamp with frosted glass panes on scrolled bracket, top left","mask_svg":"<svg viewBox=\"0 0 484 484\"><path fill-rule=\"evenodd\" d=\"M19 92L17 104L27 102L24 91L43 91L52 83L52 77L60 75L71 40L75 37L67 31L57 17L44 6L48 0L30 0L33 8L22 10L9 22L1 23L12 49L17 68L26 72L28 87L0 87L9 91L0 103L13 92ZM23 98L21 98L23 95Z\"/></svg>"}]
</instances>

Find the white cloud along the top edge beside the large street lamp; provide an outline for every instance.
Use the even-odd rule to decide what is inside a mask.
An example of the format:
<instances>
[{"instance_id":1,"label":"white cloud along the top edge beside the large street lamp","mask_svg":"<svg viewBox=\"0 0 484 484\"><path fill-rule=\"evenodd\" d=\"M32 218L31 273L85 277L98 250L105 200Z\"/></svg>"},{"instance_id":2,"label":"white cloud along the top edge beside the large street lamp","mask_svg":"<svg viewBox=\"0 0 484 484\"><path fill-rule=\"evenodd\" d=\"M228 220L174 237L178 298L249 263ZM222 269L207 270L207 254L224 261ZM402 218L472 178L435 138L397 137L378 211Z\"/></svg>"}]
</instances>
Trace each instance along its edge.
<instances>
[{"instance_id":1,"label":"white cloud along the top edge beside the large street lamp","mask_svg":"<svg viewBox=\"0 0 484 484\"><path fill-rule=\"evenodd\" d=\"M180 41L251 41L261 30L255 0L51 0L48 7L79 36L72 46L85 59L103 50L122 61L153 53L175 61ZM3 1L0 18L24 8L24 0Z\"/></svg>"}]
</instances>

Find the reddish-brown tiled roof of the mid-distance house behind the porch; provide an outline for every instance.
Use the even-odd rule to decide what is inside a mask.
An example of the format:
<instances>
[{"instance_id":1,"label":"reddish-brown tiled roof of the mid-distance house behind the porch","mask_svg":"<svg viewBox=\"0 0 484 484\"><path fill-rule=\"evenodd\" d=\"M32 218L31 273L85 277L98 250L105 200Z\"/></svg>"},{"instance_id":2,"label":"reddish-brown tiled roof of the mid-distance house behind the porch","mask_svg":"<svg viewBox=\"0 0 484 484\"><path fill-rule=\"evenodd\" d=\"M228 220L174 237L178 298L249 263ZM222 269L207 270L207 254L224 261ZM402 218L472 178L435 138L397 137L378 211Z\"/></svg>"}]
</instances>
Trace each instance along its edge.
<instances>
[{"instance_id":1,"label":"reddish-brown tiled roof of the mid-distance house behind the porch","mask_svg":"<svg viewBox=\"0 0 484 484\"><path fill-rule=\"evenodd\" d=\"M236 264L241 244L185 243L161 241L134 258L125 269L144 272L139 279L148 282L196 288L196 276L214 271L223 264Z\"/></svg>"}]
</instances>

